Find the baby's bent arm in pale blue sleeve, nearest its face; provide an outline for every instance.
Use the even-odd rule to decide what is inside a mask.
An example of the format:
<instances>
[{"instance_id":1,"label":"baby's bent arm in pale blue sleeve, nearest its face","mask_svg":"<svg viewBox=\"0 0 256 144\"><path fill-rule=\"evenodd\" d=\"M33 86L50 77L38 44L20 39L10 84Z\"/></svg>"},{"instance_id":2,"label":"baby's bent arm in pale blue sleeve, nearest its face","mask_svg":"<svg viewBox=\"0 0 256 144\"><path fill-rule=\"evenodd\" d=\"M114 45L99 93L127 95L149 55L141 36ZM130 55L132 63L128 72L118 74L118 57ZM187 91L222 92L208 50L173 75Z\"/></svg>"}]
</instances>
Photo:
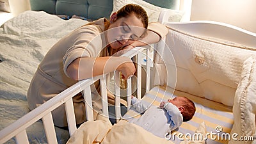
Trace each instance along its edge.
<instances>
[{"instance_id":1,"label":"baby's bent arm in pale blue sleeve, nearest its face","mask_svg":"<svg viewBox=\"0 0 256 144\"><path fill-rule=\"evenodd\" d=\"M181 115L177 106L173 105L170 102L164 104L164 109L166 109L168 115L170 115L172 124L170 125L170 130L176 129L183 122L183 116Z\"/></svg>"}]
</instances>

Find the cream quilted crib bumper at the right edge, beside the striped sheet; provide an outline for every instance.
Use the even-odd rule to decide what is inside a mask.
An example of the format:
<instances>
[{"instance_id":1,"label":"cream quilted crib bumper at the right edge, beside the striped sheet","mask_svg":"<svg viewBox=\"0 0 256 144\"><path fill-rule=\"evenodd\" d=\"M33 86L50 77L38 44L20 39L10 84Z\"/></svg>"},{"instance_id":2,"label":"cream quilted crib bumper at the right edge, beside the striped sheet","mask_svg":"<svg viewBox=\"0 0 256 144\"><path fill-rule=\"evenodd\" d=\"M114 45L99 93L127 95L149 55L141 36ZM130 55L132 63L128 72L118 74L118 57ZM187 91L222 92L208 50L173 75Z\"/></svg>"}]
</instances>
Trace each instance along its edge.
<instances>
[{"instance_id":1,"label":"cream quilted crib bumper at the right edge, beside the striped sheet","mask_svg":"<svg viewBox=\"0 0 256 144\"><path fill-rule=\"evenodd\" d=\"M237 86L233 114L234 125L231 134L238 134L237 139L242 136L253 136L255 132L256 113L256 56L244 61L241 81ZM243 141L232 140L232 143L243 143Z\"/></svg>"}]
</instances>

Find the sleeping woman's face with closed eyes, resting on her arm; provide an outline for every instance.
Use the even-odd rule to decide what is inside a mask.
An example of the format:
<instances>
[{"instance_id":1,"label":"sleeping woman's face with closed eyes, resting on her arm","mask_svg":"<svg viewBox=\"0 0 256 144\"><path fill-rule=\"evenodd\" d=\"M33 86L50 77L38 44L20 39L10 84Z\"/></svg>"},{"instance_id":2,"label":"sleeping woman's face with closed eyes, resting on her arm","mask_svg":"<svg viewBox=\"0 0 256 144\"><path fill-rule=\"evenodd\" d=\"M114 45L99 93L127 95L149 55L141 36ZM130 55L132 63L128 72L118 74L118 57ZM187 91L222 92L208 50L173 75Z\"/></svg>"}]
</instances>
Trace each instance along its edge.
<instances>
[{"instance_id":1,"label":"sleeping woman's face with closed eyes, resting on her arm","mask_svg":"<svg viewBox=\"0 0 256 144\"><path fill-rule=\"evenodd\" d=\"M144 32L143 23L132 14L128 17L114 20L108 28L107 39L113 49L119 49L132 44L134 40L138 40Z\"/></svg>"}]
</instances>

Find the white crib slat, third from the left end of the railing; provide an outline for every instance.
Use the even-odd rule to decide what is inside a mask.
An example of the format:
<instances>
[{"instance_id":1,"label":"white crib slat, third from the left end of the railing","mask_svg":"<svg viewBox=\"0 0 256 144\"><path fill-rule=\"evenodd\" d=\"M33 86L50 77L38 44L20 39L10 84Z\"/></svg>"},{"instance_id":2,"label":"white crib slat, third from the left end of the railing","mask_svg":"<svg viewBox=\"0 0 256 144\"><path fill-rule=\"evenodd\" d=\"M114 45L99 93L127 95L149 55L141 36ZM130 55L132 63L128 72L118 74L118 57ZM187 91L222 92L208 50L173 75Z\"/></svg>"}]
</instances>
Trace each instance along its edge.
<instances>
[{"instance_id":1,"label":"white crib slat, third from the left end of the railing","mask_svg":"<svg viewBox=\"0 0 256 144\"><path fill-rule=\"evenodd\" d=\"M74 132L77 129L73 99L69 99L67 100L67 102L65 102L65 110L66 110L67 121L68 121L69 135L72 136L72 134L74 134Z\"/></svg>"}]
</instances>

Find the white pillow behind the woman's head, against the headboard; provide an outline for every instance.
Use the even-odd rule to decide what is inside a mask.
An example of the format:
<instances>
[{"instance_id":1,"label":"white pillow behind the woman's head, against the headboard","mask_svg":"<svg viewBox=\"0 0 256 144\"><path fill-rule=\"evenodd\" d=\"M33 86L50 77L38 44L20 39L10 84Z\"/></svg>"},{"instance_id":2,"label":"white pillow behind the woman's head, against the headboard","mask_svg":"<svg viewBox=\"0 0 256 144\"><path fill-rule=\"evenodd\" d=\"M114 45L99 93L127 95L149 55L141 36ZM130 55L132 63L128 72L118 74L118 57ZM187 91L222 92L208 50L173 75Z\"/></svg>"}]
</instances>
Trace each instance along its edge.
<instances>
[{"instance_id":1,"label":"white pillow behind the woman's head, against the headboard","mask_svg":"<svg viewBox=\"0 0 256 144\"><path fill-rule=\"evenodd\" d=\"M138 4L141 7L143 7L147 14L148 14L148 22L157 22L159 14L162 10L166 10L170 17L168 21L172 22L179 22L184 15L184 12L178 11L178 10L170 10L167 8L161 8L159 6L155 6L153 4L147 3L142 0L113 0L113 11L112 13L118 11L120 8L122 8L126 4ZM111 15L112 15L111 13Z\"/></svg>"}]
</instances>

